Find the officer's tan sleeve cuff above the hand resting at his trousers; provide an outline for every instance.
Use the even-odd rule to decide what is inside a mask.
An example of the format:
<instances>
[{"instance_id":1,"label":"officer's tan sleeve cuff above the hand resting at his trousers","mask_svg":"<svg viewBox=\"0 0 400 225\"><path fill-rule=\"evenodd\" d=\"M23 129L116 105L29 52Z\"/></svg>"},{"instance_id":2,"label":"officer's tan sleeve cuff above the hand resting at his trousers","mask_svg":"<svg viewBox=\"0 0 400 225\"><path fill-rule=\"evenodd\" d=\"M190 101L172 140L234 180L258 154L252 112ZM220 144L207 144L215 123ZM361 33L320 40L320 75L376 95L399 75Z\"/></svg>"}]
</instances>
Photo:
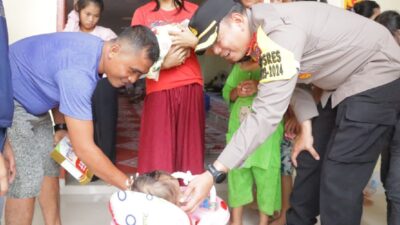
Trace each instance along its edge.
<instances>
[{"instance_id":1,"label":"officer's tan sleeve cuff above the hand resting at his trousers","mask_svg":"<svg viewBox=\"0 0 400 225\"><path fill-rule=\"evenodd\" d=\"M297 86L293 92L290 105L299 123L318 116L317 106L310 87Z\"/></svg>"}]
</instances>

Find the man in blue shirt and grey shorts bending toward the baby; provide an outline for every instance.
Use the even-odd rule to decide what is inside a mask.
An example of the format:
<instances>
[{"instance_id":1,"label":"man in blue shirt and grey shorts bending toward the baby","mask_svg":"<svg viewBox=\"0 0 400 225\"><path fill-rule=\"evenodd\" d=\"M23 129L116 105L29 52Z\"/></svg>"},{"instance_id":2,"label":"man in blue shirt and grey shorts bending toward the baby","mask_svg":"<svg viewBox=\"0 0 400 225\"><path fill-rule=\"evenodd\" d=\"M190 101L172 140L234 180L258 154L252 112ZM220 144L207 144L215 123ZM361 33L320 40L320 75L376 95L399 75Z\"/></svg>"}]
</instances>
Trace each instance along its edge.
<instances>
[{"instance_id":1,"label":"man in blue shirt and grey shorts bending toward the baby","mask_svg":"<svg viewBox=\"0 0 400 225\"><path fill-rule=\"evenodd\" d=\"M126 189L128 177L94 143L91 97L98 74L106 73L114 87L122 87L147 73L159 57L154 34L134 26L106 42L85 33L38 35L11 45L9 57L15 111L8 138L18 172L8 192L6 224L31 224L36 197L45 223L61 224L58 168L50 159L50 109L54 142L68 127L76 154L90 170Z\"/></svg>"}]
</instances>

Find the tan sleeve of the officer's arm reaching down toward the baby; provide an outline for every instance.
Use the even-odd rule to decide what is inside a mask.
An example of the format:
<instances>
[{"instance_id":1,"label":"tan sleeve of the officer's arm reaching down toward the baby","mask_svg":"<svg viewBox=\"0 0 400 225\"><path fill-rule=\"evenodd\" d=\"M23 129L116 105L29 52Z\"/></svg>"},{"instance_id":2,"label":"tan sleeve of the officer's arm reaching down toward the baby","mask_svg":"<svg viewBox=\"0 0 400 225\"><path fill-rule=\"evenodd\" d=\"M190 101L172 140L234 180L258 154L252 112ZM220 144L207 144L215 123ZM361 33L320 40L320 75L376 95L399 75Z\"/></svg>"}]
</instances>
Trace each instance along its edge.
<instances>
[{"instance_id":1,"label":"tan sleeve of the officer's arm reaching down toward the baby","mask_svg":"<svg viewBox=\"0 0 400 225\"><path fill-rule=\"evenodd\" d=\"M289 105L296 81L294 76L290 80L259 84L252 113L242 122L218 161L228 168L238 167L275 131Z\"/></svg>"}]
</instances>

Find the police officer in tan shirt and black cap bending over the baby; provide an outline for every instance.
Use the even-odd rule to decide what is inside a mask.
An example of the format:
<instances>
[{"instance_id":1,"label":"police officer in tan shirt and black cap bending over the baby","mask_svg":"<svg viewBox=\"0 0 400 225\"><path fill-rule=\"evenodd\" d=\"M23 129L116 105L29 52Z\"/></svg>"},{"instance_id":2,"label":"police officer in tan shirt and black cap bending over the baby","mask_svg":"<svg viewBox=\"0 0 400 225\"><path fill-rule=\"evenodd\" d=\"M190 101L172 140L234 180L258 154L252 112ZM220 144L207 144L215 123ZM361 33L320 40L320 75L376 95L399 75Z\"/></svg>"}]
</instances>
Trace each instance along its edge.
<instances>
[{"instance_id":1,"label":"police officer in tan shirt and black cap bending over the baby","mask_svg":"<svg viewBox=\"0 0 400 225\"><path fill-rule=\"evenodd\" d=\"M281 121L289 103L301 122L287 224L360 224L362 190L400 115L400 48L381 25L315 2L257 4L208 0L189 28L196 52L258 61L262 80L252 113L185 196L193 210L229 169L240 167ZM309 90L323 90L316 105ZM399 132L399 131L396 131ZM396 135L395 135L396 136ZM398 136L398 135L397 135Z\"/></svg>"}]
</instances>

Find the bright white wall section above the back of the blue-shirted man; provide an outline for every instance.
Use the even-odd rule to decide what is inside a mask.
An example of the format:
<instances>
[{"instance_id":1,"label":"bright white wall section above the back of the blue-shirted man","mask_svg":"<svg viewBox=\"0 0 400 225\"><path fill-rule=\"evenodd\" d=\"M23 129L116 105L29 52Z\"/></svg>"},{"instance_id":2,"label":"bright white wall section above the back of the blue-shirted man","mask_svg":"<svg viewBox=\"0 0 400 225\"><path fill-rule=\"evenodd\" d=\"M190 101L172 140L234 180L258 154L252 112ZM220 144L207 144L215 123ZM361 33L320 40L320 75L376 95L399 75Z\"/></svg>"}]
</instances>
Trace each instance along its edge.
<instances>
[{"instance_id":1,"label":"bright white wall section above the back of the blue-shirted man","mask_svg":"<svg viewBox=\"0 0 400 225\"><path fill-rule=\"evenodd\" d=\"M9 42L56 31L56 0L3 0Z\"/></svg>"}]
</instances>

